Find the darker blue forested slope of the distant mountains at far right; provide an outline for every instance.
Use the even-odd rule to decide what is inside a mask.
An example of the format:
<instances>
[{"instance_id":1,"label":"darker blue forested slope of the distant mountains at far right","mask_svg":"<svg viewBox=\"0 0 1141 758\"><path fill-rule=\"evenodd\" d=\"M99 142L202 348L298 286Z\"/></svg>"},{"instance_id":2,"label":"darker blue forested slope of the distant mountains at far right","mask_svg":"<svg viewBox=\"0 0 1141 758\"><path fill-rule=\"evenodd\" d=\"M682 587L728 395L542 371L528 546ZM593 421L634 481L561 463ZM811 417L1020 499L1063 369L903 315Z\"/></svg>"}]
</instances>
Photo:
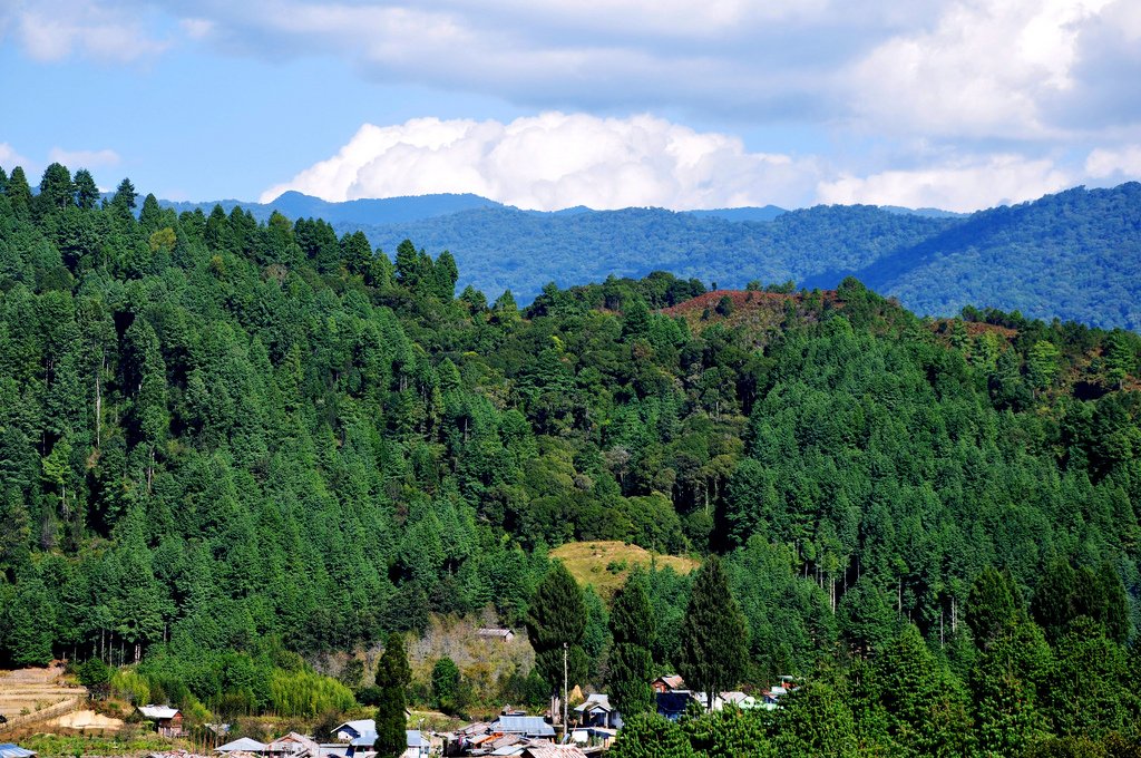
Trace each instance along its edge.
<instances>
[{"instance_id":1,"label":"darker blue forested slope of the distant mountains at far right","mask_svg":"<svg viewBox=\"0 0 1141 758\"><path fill-rule=\"evenodd\" d=\"M853 273L920 313L988 305L1141 330L1141 184L981 211Z\"/></svg>"}]
</instances>

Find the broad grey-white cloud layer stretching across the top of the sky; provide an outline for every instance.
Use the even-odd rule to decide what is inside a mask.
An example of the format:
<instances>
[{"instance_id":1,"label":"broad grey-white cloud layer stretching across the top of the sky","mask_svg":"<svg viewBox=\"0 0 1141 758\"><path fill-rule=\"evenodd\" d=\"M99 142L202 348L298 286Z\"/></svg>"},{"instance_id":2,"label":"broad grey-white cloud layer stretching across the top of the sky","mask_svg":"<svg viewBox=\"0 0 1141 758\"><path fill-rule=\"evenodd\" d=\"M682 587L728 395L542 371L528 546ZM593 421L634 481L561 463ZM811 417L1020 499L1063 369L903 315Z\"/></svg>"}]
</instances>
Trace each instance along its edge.
<instances>
[{"instance_id":1,"label":"broad grey-white cloud layer stretching across the top of the sky","mask_svg":"<svg viewBox=\"0 0 1141 758\"><path fill-rule=\"evenodd\" d=\"M1136 0L10 0L5 22L40 59L154 54L165 23L226 53L335 56L537 108L1006 140L1141 119Z\"/></svg>"}]
</instances>

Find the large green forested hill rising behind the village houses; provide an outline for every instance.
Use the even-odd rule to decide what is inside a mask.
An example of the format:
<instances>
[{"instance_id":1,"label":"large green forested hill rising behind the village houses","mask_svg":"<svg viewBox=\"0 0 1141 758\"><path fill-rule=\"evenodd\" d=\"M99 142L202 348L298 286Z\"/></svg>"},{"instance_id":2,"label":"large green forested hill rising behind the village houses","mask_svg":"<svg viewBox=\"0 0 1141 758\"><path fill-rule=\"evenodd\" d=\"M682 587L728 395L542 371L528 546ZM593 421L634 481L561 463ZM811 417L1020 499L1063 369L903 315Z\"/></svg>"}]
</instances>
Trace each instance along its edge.
<instances>
[{"instance_id":1,"label":"large green forested hill rising behind the village houses","mask_svg":"<svg viewBox=\"0 0 1141 758\"><path fill-rule=\"evenodd\" d=\"M296 653L429 613L519 623L550 547L622 540L725 556L746 685L922 635L957 683L932 692L958 693L972 587L1001 570L1057 656L1034 686L1098 667L1112 704L1035 719L1136 723L1136 334L932 323L855 280L710 296L655 273L520 309L456 296L455 259L411 242L97 196L58 164L37 195L0 175L0 666L141 658L171 701L285 710L314 676ZM671 668L691 580L646 582Z\"/></svg>"}]
</instances>

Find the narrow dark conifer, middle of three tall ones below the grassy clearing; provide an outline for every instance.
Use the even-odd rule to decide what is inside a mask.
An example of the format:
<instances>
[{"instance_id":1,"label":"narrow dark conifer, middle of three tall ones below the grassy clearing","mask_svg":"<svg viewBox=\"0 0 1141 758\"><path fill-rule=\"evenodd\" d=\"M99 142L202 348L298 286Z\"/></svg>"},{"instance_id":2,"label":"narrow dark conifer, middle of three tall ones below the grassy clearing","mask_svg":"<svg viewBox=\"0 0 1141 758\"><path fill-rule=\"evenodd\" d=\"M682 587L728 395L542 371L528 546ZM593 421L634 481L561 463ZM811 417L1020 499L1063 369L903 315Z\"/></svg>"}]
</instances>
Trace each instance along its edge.
<instances>
[{"instance_id":1,"label":"narrow dark conifer, middle of three tall ones below the grassy clearing","mask_svg":"<svg viewBox=\"0 0 1141 758\"><path fill-rule=\"evenodd\" d=\"M633 573L610 607L610 701L623 717L654 710L654 610L641 574Z\"/></svg>"}]
</instances>

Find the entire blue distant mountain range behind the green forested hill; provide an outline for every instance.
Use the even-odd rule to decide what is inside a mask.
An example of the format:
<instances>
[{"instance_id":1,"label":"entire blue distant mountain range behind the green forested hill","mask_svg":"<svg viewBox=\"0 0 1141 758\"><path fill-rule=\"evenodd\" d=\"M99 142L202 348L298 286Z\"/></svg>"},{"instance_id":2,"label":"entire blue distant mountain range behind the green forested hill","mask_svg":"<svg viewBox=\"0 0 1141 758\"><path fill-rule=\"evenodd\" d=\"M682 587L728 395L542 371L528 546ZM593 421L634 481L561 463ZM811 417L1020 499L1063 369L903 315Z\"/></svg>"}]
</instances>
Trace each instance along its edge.
<instances>
[{"instance_id":1,"label":"entire blue distant mountain range behind the green forested hill","mask_svg":"<svg viewBox=\"0 0 1141 758\"><path fill-rule=\"evenodd\" d=\"M163 204L178 210L215 203ZM675 212L658 208L526 211L472 194L333 203L288 192L241 204L259 219L324 218L364 231L389 256L404 239L450 250L460 287L529 301L569 287L655 269L744 287L792 280L832 288L855 275L921 314L963 305L1141 329L1141 185L1078 187L971 215L938 209L775 205Z\"/></svg>"}]
</instances>

